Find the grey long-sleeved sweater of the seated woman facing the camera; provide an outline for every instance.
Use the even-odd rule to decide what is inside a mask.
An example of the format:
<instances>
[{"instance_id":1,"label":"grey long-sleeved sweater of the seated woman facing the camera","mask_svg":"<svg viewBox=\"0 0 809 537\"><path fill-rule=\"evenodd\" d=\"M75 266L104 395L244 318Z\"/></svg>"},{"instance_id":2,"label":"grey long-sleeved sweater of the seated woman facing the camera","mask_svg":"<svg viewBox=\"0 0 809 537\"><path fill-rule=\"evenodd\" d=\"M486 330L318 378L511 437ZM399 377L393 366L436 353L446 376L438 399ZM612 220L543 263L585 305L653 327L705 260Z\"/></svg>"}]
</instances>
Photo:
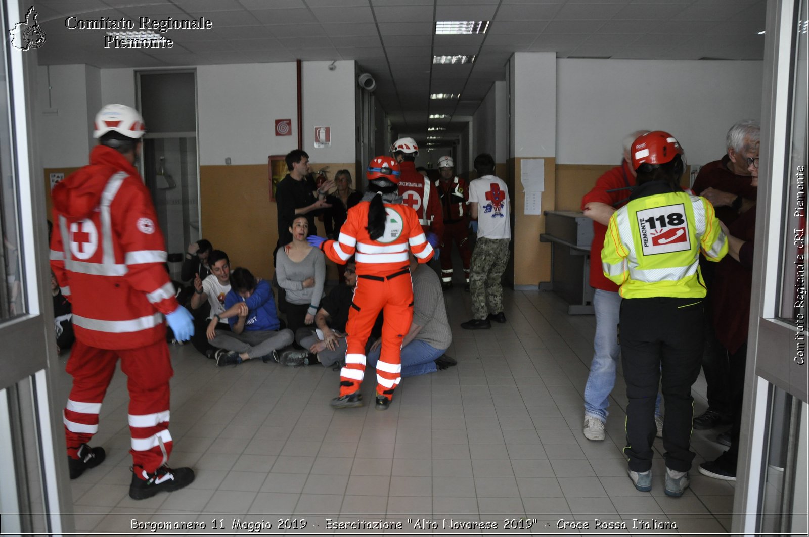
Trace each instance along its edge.
<instances>
[{"instance_id":1,"label":"grey long-sleeved sweater of the seated woman facing the camera","mask_svg":"<svg viewBox=\"0 0 809 537\"><path fill-rule=\"evenodd\" d=\"M323 284L326 281L326 261L323 252L317 248L311 251L299 263L290 260L283 248L278 249L275 263L275 277L284 290L286 302L290 304L309 304L308 313L315 315L323 298ZM303 289L303 280L315 277L315 286Z\"/></svg>"}]
</instances>

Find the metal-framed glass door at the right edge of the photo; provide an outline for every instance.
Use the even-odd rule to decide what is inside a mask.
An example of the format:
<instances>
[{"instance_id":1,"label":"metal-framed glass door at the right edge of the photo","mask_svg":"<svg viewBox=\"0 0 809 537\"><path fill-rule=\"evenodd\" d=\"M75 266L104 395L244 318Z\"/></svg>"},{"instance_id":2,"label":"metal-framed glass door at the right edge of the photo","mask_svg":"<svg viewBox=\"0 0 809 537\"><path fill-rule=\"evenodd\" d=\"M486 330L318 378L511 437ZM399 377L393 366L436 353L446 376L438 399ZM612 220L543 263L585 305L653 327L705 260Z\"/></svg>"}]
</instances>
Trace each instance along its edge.
<instances>
[{"instance_id":1,"label":"metal-framed glass door at the right edge of the photo","mask_svg":"<svg viewBox=\"0 0 809 537\"><path fill-rule=\"evenodd\" d=\"M768 2L756 261L731 533L807 535L807 13Z\"/></svg>"}]
</instances>

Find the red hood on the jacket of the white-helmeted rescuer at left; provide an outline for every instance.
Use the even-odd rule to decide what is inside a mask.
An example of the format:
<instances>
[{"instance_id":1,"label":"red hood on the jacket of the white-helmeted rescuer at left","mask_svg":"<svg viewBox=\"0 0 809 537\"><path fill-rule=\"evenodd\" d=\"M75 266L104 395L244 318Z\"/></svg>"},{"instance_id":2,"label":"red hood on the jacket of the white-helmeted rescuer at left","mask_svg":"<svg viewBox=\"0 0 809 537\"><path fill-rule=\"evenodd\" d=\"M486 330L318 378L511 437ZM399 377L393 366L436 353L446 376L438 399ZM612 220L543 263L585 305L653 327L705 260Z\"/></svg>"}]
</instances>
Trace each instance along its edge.
<instances>
[{"instance_id":1,"label":"red hood on the jacket of the white-helmeted rescuer at left","mask_svg":"<svg viewBox=\"0 0 809 537\"><path fill-rule=\"evenodd\" d=\"M53 209L68 218L86 218L99 205L101 192L112 175L123 171L140 179L124 155L107 146L95 146L90 165L71 173L53 188Z\"/></svg>"}]
</instances>

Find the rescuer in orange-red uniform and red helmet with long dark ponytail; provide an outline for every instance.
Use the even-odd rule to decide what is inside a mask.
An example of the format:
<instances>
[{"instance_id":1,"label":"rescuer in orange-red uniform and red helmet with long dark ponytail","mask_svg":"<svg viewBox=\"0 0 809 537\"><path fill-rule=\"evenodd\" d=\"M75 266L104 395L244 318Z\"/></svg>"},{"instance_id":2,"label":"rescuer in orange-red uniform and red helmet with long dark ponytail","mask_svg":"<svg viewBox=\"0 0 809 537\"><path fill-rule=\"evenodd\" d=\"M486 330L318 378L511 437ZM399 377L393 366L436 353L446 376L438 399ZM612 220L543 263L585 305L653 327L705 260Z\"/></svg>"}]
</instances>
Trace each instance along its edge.
<instances>
[{"instance_id":1,"label":"rescuer in orange-red uniform and red helmet with long dark ponytail","mask_svg":"<svg viewBox=\"0 0 809 537\"><path fill-rule=\"evenodd\" d=\"M418 174L421 176L421 174ZM401 380L400 354L413 320L413 282L409 252L420 263L433 256L413 209L398 195L399 164L391 157L371 160L366 171L368 192L349 209L338 240L307 238L335 263L351 256L357 263L357 287L345 325L348 332L345 366L340 371L340 396L333 408L362 406L360 384L365 374L365 347L379 311L384 312L382 353L376 365L376 408L386 410ZM437 240L435 237L430 239Z\"/></svg>"}]
</instances>

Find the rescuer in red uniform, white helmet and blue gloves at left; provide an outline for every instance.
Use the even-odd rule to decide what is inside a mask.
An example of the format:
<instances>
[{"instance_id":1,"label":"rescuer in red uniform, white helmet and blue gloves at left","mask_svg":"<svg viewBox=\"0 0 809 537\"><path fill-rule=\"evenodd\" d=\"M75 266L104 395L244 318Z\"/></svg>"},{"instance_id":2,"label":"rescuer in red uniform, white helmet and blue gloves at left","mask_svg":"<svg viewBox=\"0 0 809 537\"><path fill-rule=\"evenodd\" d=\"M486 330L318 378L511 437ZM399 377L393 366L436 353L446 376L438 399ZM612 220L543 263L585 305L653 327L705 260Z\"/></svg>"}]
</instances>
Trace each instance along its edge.
<instances>
[{"instance_id":1,"label":"rescuer in red uniform, white helmet and blue gloves at left","mask_svg":"<svg viewBox=\"0 0 809 537\"><path fill-rule=\"evenodd\" d=\"M108 104L95 116L99 145L90 165L53 188L50 264L73 306L76 344L66 370L73 388L64 413L70 479L98 466L104 448L90 447L116 362L128 377L129 432L136 500L183 488L191 468L167 467L172 362L165 316L177 340L193 336L164 267L155 208L134 163L146 132L137 110Z\"/></svg>"}]
</instances>

